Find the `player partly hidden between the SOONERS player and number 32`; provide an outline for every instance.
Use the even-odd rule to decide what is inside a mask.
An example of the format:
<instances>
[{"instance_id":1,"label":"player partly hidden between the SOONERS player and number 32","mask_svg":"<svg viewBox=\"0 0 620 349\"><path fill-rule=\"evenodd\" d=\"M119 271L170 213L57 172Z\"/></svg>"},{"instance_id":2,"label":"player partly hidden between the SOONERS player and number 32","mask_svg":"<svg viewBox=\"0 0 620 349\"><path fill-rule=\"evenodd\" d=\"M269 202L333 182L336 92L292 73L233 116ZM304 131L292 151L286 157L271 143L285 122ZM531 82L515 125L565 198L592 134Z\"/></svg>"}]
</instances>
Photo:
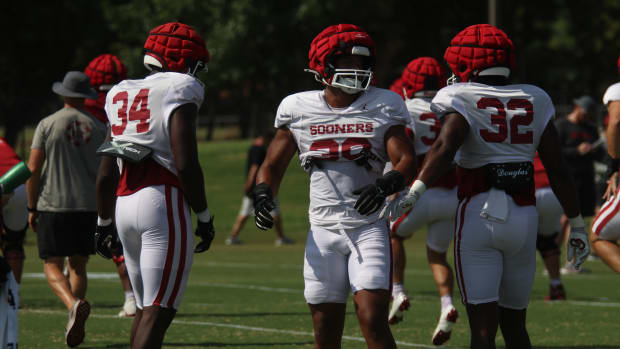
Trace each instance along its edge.
<instances>
[{"instance_id":1,"label":"player partly hidden between the SOONERS player and number 32","mask_svg":"<svg viewBox=\"0 0 620 349\"><path fill-rule=\"evenodd\" d=\"M414 136L417 163L424 163L424 155L439 136L441 124L431 112L431 99L446 85L445 69L432 57L419 57L407 65L400 78L405 103L411 117L409 128ZM391 224L394 275L392 285L392 308L389 322L402 320L402 311L409 308L409 297L404 289L405 248L403 240L428 224L426 257L441 298L439 323L432 337L434 345L442 345L452 332L458 312L452 304L454 276L448 264L446 252L454 234L454 212L458 205L456 197L456 173L452 169L438 179L420 198L415 210L406 212Z\"/></svg>"}]
</instances>

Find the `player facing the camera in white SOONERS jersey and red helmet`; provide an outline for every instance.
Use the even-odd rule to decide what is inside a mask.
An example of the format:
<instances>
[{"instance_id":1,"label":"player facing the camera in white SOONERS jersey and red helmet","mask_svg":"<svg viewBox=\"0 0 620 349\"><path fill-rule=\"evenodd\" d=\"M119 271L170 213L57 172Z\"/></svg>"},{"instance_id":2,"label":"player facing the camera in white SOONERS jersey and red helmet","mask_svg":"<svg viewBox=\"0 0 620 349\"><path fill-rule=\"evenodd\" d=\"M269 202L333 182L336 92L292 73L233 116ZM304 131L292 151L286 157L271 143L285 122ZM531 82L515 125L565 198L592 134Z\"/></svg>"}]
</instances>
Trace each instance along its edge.
<instances>
[{"instance_id":1,"label":"player facing the camera in white SOONERS jersey and red helmet","mask_svg":"<svg viewBox=\"0 0 620 349\"><path fill-rule=\"evenodd\" d=\"M273 226L274 197L299 150L310 176L304 296L315 348L340 347L349 292L368 347L395 348L387 322L390 242L380 209L416 170L407 108L397 94L371 86L375 44L364 29L327 27L312 41L309 59L307 71L325 88L280 103L277 133L256 178L256 225ZM387 161L393 170L382 175Z\"/></svg>"}]
</instances>

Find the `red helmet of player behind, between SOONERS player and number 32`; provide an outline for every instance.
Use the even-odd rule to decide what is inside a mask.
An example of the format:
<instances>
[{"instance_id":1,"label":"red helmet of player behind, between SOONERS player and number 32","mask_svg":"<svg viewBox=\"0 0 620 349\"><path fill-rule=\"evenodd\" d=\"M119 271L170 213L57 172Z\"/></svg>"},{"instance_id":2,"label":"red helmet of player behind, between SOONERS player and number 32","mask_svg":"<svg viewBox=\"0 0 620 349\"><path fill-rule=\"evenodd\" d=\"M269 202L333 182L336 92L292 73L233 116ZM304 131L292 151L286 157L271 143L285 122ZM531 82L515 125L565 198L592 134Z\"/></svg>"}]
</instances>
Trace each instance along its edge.
<instances>
[{"instance_id":1,"label":"red helmet of player behind, between SOONERS player and number 32","mask_svg":"<svg viewBox=\"0 0 620 349\"><path fill-rule=\"evenodd\" d=\"M446 70L433 57L419 57L407 64L401 79L406 98L432 97L446 86Z\"/></svg>"}]
</instances>

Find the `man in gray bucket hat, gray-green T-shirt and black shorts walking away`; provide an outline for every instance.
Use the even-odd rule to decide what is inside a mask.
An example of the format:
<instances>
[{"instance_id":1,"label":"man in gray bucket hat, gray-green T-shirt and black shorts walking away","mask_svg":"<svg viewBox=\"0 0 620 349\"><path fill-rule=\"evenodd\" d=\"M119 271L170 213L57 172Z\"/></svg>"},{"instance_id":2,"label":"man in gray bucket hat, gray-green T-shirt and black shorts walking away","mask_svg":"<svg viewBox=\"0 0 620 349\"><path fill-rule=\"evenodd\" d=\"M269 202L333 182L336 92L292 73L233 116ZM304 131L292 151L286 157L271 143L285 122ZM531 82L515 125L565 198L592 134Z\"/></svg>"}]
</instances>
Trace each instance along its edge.
<instances>
[{"instance_id":1,"label":"man in gray bucket hat, gray-green T-shirt and black shorts walking away","mask_svg":"<svg viewBox=\"0 0 620 349\"><path fill-rule=\"evenodd\" d=\"M84 340L90 314L86 263L95 252L95 151L105 139L106 127L84 108L86 98L97 98L84 73L68 72L52 91L63 96L64 106L43 118L32 138L28 222L37 233L47 282L69 313L66 344L75 347ZM63 273L66 257L68 276Z\"/></svg>"}]
</instances>

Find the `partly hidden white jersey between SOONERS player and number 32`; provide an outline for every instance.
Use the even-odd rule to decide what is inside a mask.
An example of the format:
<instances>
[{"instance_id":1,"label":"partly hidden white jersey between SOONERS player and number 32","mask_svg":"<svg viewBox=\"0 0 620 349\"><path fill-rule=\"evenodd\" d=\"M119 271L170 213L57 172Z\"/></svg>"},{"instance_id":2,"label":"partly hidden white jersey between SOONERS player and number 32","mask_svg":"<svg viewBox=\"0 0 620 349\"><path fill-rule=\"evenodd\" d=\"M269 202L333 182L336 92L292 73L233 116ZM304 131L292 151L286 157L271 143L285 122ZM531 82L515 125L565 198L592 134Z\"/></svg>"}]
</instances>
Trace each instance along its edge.
<instances>
[{"instance_id":1,"label":"partly hidden white jersey between SOONERS player and number 32","mask_svg":"<svg viewBox=\"0 0 620 349\"><path fill-rule=\"evenodd\" d=\"M441 129L439 118L431 112L430 98L413 98L408 99L405 103L411 117L409 128L415 134L413 143L415 154L426 154L439 136Z\"/></svg>"}]
</instances>

